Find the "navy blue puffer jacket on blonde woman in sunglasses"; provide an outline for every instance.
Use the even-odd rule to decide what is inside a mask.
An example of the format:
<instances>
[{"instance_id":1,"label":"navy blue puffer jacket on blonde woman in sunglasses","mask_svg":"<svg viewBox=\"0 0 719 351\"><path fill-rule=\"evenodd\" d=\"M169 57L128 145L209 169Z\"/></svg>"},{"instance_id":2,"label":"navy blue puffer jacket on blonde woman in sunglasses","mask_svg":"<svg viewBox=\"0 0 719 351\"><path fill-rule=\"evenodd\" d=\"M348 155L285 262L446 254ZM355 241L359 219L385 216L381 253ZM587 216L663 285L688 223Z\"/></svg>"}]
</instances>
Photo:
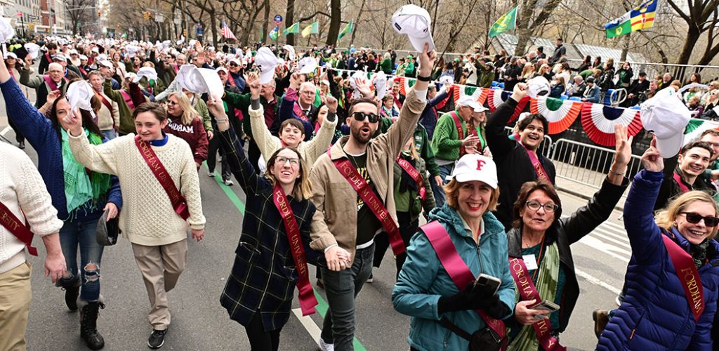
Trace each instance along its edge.
<instances>
[{"instance_id":1,"label":"navy blue puffer jacket on blonde woman in sunglasses","mask_svg":"<svg viewBox=\"0 0 719 351\"><path fill-rule=\"evenodd\" d=\"M706 307L695 322L661 235L674 237L687 251L690 244L676 228L662 232L652 216L662 178L661 172L642 170L629 191L624 227L632 257L626 273L626 298L604 329L597 350L712 350L719 243L711 240L709 263L699 268Z\"/></svg>"}]
</instances>

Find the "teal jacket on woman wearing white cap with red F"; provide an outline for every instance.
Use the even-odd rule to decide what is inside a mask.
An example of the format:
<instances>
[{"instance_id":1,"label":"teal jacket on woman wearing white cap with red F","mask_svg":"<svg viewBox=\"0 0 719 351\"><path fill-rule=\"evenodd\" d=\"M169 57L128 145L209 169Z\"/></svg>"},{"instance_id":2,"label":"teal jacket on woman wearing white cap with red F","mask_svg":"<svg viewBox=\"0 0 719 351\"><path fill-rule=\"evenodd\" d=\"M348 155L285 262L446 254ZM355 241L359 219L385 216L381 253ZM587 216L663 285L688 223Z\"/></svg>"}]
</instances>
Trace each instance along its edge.
<instances>
[{"instance_id":1,"label":"teal jacket on woman wearing white cap with red F","mask_svg":"<svg viewBox=\"0 0 719 351\"><path fill-rule=\"evenodd\" d=\"M487 212L482 217L485 232L480 237L479 246L464 229L464 222L457 211L446 204L433 209L429 219L437 220L444 226L457 252L475 276L485 273L500 278L500 300L513 310L514 281L509 271L507 235L494 214ZM480 270L480 265L484 270ZM423 232L418 232L407 248L407 260L392 291L395 309L412 317L407 338L409 345L417 350L467 350L469 342L466 339L436 322L441 318L437 311L439 297L456 293L459 289L442 267L429 239ZM470 333L485 327L476 311L447 312L444 315L457 327Z\"/></svg>"}]
</instances>

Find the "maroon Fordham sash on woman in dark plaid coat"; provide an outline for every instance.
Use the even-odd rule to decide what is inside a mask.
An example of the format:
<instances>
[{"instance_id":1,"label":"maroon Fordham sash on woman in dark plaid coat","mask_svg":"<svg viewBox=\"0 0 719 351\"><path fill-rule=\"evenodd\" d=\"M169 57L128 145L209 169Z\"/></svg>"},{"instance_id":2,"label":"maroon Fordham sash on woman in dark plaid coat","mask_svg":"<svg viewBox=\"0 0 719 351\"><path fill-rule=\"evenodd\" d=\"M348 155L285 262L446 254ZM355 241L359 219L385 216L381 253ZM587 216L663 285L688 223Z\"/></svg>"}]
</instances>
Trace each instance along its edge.
<instances>
[{"instance_id":1,"label":"maroon Fordham sash on woman in dark plaid coat","mask_svg":"<svg viewBox=\"0 0 719 351\"><path fill-rule=\"evenodd\" d=\"M302 238L300 237L300 229L295 219L295 214L290 207L290 201L285 196L282 187L275 183L273 189L273 200L275 207L280 211L280 216L285 223L285 232L287 232L287 240L290 242L290 251L292 258L295 260L297 274L300 276L297 281L298 295L300 297L300 307L302 315L307 316L315 313L314 306L317 306L317 298L314 296L314 290L310 284L310 277L307 270L307 261L305 260L305 250L302 247Z\"/></svg>"}]
</instances>

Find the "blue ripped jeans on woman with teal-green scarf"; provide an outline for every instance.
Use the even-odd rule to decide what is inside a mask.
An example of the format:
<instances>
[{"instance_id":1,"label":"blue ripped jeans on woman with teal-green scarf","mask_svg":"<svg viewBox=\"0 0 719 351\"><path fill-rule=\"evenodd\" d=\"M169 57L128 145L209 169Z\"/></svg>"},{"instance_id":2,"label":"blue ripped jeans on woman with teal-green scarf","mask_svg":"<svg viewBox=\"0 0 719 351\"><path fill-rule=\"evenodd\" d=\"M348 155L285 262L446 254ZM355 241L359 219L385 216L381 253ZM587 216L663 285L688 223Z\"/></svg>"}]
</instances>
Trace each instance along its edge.
<instances>
[{"instance_id":1,"label":"blue ripped jeans on woman with teal-green scarf","mask_svg":"<svg viewBox=\"0 0 719 351\"><path fill-rule=\"evenodd\" d=\"M75 286L80 279L80 299L83 301L100 298L100 261L104 246L97 242L97 221L65 222L60 229L60 247L63 248L68 270L65 277L58 281L58 286ZM81 270L78 269L78 247Z\"/></svg>"}]
</instances>

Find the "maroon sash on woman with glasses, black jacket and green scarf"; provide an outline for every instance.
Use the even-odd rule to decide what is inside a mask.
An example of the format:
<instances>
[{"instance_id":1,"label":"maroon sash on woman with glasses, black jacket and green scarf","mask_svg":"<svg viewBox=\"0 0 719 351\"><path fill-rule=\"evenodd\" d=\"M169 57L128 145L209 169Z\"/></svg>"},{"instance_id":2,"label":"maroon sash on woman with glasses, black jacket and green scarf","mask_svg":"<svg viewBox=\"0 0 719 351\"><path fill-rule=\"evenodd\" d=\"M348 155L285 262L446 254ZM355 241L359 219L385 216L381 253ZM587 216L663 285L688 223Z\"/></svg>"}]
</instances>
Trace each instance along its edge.
<instances>
[{"instance_id":1,"label":"maroon sash on woman with glasses, black jacket and green scarf","mask_svg":"<svg viewBox=\"0 0 719 351\"><path fill-rule=\"evenodd\" d=\"M509 270L514 278L514 283L517 284L517 290L519 291L519 296L521 296L522 300L534 300L537 304L539 304L541 302L539 291L537 291L534 283L532 283L532 280L529 278L529 273L526 265L524 265L524 260L516 257L510 258ZM542 319L541 321L532 324L532 327L534 328L534 333L544 350L567 350L567 347L559 345L559 340L557 340L556 337L549 334L549 329L551 327L549 319Z\"/></svg>"}]
</instances>

